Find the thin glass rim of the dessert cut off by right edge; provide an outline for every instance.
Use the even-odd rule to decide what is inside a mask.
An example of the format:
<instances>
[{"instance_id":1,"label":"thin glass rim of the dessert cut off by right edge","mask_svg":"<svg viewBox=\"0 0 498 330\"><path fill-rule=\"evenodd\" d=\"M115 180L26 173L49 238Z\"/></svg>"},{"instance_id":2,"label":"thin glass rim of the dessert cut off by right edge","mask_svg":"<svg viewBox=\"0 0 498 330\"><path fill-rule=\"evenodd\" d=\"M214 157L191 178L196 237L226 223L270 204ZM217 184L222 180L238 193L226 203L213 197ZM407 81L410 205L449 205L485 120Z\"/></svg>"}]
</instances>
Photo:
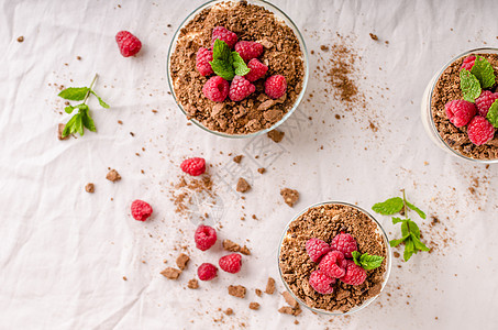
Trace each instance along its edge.
<instances>
[{"instance_id":1,"label":"thin glass rim of the dessert cut off by right edge","mask_svg":"<svg viewBox=\"0 0 498 330\"><path fill-rule=\"evenodd\" d=\"M441 78L441 75L444 73L444 70L451 66L455 61L464 57L464 56L467 56L467 55L471 55L471 54L475 54L475 53L485 53L485 52L496 52L498 54L498 48L494 48L494 47L479 47L479 48L473 48L473 50L469 50L469 51L466 51L462 54L458 54L457 56L454 56L452 59L450 59L449 62L446 62L446 64L443 66L442 69L440 69L435 76L432 78L432 80L429 82L430 84L430 92L428 94L428 114L429 114L429 122L430 122L430 125L431 125L431 129L433 131L433 133L435 133L436 135L436 139L445 146L446 150L451 151L452 154L463 158L463 160L466 160L466 161L471 161L471 162L475 162L475 163L479 163L479 164L495 164L495 163L498 163L498 158L494 158L494 160L477 160L477 158L472 158L472 157L468 157L466 155L463 155L461 154L460 152L455 151L453 147L451 147L446 141L444 141L444 139L441 136L440 132L438 131L438 128L435 127L435 123L434 123L434 118L432 117L432 95L434 92L434 89L435 89L435 85L438 84L438 81L440 80Z\"/></svg>"}]
</instances>

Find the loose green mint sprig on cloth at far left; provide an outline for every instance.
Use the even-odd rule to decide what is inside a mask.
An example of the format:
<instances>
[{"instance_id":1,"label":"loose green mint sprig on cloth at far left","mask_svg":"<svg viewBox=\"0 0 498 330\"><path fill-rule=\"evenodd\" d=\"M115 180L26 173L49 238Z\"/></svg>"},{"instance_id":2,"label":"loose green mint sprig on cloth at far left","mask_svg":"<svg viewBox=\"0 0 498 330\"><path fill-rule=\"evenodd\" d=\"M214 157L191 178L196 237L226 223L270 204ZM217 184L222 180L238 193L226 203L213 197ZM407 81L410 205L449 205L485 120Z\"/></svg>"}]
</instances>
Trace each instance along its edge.
<instances>
[{"instance_id":1,"label":"loose green mint sprig on cloth at far left","mask_svg":"<svg viewBox=\"0 0 498 330\"><path fill-rule=\"evenodd\" d=\"M71 119L66 123L63 130L62 138L65 138L69 134L79 133L79 135L84 135L85 128L91 132L96 132L96 125L93 119L90 117L90 108L88 108L87 99L92 94L99 100L99 103L102 108L109 109L109 105L106 103L91 88L93 87L95 81L97 80L97 75L95 76L93 80L90 84L90 87L69 87L64 89L58 94L59 97L66 100L71 101L84 101L77 106L67 106L64 108L66 113L73 113L76 109L78 110Z\"/></svg>"}]
</instances>

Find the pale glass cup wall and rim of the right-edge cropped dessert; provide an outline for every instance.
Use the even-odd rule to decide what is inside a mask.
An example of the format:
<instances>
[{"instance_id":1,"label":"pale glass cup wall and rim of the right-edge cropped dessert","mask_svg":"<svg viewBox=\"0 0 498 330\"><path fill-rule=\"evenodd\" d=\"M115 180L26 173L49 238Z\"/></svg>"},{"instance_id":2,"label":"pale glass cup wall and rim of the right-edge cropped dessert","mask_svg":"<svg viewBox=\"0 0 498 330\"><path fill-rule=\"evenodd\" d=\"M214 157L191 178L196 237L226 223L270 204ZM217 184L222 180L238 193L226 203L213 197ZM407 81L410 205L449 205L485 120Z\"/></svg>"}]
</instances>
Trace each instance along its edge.
<instances>
[{"instance_id":1,"label":"pale glass cup wall and rim of the right-edge cropped dessert","mask_svg":"<svg viewBox=\"0 0 498 330\"><path fill-rule=\"evenodd\" d=\"M460 158L464 158L466 161L475 162L475 163L480 163L480 164L494 164L498 163L498 158L496 160L477 160L477 158L472 158L466 155L461 154L460 152L455 151L452 148L446 141L443 140L443 138L440 135L438 128L435 127L434 123L434 118L432 117L432 96L435 89L435 85L438 84L438 80L440 79L441 75L444 73L444 70L452 65L455 61L462 57L466 57L472 54L482 54L482 53L491 53L491 54L498 54L498 48L475 48L467 51L465 53L462 53L454 58L452 58L449 63L446 63L429 81L428 86L425 87L425 90L422 96L422 102L421 102L421 118L422 118L422 124L425 129L425 132L428 133L429 138L434 142L439 147L444 150L445 152L457 156Z\"/></svg>"}]
</instances>

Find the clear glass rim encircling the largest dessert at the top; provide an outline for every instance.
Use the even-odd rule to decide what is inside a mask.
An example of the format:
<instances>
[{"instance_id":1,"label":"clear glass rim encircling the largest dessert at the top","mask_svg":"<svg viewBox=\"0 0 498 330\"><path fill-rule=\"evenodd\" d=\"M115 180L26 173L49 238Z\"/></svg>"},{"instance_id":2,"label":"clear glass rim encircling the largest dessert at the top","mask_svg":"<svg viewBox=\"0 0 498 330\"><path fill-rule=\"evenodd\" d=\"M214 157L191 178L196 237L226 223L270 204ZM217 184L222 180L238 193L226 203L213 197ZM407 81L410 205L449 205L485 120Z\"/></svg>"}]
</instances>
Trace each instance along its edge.
<instances>
[{"instance_id":1,"label":"clear glass rim encircling the largest dessert at the top","mask_svg":"<svg viewBox=\"0 0 498 330\"><path fill-rule=\"evenodd\" d=\"M177 103L178 108L181 110L181 112L186 117L188 117L188 114L185 111L184 107L178 102L177 97L175 95L175 88L174 88L173 77L171 77L171 72L170 72L170 63L171 63L170 58L171 58L173 53L175 52L175 48L176 48L176 45L177 45L177 42L178 42L179 33L180 33L181 29L184 29L202 10L204 10L207 8L210 8L212 6L215 6L218 3L221 3L221 2L233 2L233 1L234 0L212 0L212 1L206 2L204 4L200 6L196 10L193 10L181 22L181 24L178 26L178 29L175 32L175 35L173 36L171 43L169 44L168 57L167 57L167 63L166 63L169 90L171 91L173 98L175 99L175 102ZM294 113L294 111L296 111L296 109L298 108L298 106L301 102L302 98L305 97L306 87L308 85L308 77L309 77L308 52L307 52L307 48L306 48L305 40L303 40L301 33L299 32L299 29L296 26L296 24L292 22L292 20L290 20L290 18L285 12L283 12L280 9L278 9L277 7L275 7L274 4L272 4L269 2L266 2L264 0L248 0L247 3L256 4L256 6L259 6L259 7L263 7L263 8L267 9L277 19L280 19L285 24L287 24L292 30L292 32L295 33L297 40L299 41L299 46L300 46L300 50L301 50L301 53L302 53L302 63L303 63L303 66L305 66L302 89L299 92L299 95L298 95L298 97L296 99L296 102L294 103L292 108L289 109L287 111L287 113L285 113L285 116L278 122L276 122L275 124L273 124L268 129L264 129L264 130L261 130L261 131L257 131L257 132L254 132L254 133L250 133L250 134L228 134L228 133L210 130L210 129L206 128L202 123L197 121L196 119L190 119L191 122L193 122L197 127L201 128L202 130L204 130L204 131L207 131L209 133L212 133L214 135L222 136L222 138L232 138L232 139L253 138L253 136L256 136L256 135L261 135L261 134L267 133L267 132L269 132L272 130L275 130L277 127L283 124Z\"/></svg>"}]
</instances>

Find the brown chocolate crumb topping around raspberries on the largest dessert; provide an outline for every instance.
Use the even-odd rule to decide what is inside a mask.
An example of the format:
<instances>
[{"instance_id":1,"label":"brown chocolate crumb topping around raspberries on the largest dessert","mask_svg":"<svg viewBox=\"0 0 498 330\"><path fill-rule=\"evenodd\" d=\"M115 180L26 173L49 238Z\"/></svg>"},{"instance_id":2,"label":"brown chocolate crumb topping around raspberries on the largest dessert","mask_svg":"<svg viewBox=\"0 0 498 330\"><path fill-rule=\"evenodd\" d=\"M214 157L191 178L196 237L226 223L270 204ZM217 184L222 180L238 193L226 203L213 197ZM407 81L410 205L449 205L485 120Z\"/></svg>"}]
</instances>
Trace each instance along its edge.
<instances>
[{"instance_id":1,"label":"brown chocolate crumb topping around raspberries on the largest dessert","mask_svg":"<svg viewBox=\"0 0 498 330\"><path fill-rule=\"evenodd\" d=\"M240 102L226 99L217 103L203 96L202 86L209 77L196 69L196 54L200 47L211 46L215 26L234 32L239 41L263 44L265 51L259 61L268 66L267 76L286 77L285 97L269 100L264 94L264 79L255 81L256 91ZM181 29L171 55L170 74L176 99L189 119L210 130L248 134L270 128L294 107L302 90L305 64L292 30L270 11L246 1L228 1L204 9Z\"/></svg>"}]
</instances>

